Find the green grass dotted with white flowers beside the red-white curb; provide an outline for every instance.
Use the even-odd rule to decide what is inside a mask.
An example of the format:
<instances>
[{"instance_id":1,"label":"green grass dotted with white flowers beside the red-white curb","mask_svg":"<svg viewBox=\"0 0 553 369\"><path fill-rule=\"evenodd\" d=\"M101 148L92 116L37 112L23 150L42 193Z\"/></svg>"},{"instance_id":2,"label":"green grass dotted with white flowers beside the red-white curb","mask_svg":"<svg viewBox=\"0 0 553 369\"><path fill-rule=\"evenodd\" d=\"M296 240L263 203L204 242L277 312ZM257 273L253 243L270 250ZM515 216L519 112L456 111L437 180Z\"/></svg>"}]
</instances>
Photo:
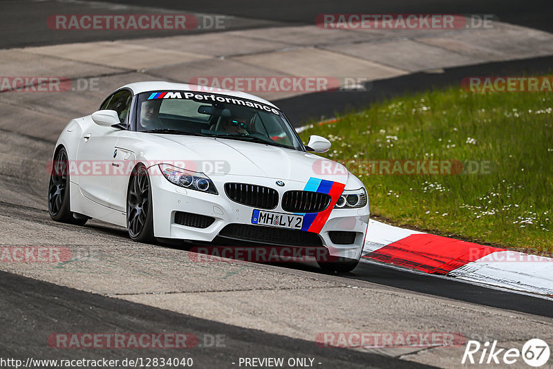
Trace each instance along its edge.
<instances>
[{"instance_id":1,"label":"green grass dotted with white flowers beside the red-white curb","mask_svg":"<svg viewBox=\"0 0 553 369\"><path fill-rule=\"evenodd\" d=\"M491 162L485 173L363 174L371 214L446 236L553 251L553 93L429 91L307 129L332 160ZM366 169L366 168L365 168ZM465 169L466 170L466 169ZM360 173L360 174L359 174ZM368 171L370 173L370 171Z\"/></svg>"}]
</instances>

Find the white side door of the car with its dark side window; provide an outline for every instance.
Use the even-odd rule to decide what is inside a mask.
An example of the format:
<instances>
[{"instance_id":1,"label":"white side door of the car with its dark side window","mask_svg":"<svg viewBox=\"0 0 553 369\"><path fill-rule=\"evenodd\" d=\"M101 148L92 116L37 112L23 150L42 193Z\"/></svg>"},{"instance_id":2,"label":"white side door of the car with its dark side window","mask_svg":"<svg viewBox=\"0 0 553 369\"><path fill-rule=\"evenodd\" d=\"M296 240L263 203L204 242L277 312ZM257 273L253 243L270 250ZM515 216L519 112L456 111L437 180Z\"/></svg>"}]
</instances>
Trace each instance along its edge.
<instances>
[{"instance_id":1,"label":"white side door of the car with its dark side window","mask_svg":"<svg viewBox=\"0 0 553 369\"><path fill-rule=\"evenodd\" d=\"M131 106L132 93L121 90L113 93L102 108L116 111L125 122ZM77 149L78 183L83 196L104 206L110 206L113 159L121 129L91 124L83 131Z\"/></svg>"}]
</instances>

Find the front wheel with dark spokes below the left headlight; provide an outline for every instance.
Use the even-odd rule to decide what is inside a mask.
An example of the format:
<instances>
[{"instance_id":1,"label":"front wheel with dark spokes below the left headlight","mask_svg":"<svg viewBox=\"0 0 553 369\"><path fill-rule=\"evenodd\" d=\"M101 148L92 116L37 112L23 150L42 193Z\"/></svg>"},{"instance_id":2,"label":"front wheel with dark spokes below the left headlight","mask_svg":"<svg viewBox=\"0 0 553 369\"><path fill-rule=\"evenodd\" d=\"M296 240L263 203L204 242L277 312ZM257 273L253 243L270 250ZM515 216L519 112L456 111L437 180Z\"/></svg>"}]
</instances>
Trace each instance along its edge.
<instances>
[{"instance_id":1,"label":"front wheel with dark spokes below the left headlight","mask_svg":"<svg viewBox=\"0 0 553 369\"><path fill-rule=\"evenodd\" d=\"M153 243L153 206L151 182L144 164L131 173L126 191L126 229L133 241Z\"/></svg>"}]
</instances>

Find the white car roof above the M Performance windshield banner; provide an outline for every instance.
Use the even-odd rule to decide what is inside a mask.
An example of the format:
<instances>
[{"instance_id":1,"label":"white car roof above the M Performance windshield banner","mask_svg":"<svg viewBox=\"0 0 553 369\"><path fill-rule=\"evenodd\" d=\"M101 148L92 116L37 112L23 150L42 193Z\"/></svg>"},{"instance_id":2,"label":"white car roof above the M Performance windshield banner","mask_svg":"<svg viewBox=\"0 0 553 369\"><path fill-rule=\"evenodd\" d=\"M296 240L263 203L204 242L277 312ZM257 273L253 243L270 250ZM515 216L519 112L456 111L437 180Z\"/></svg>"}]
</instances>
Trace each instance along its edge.
<instances>
[{"instance_id":1,"label":"white car roof above the M Performance windshield banner","mask_svg":"<svg viewBox=\"0 0 553 369\"><path fill-rule=\"evenodd\" d=\"M165 82L165 81L150 81L150 82L134 82L131 84L126 84L125 86L122 86L121 88L130 88L131 91L136 95L138 93L148 92L148 91L198 91L200 93L218 93L221 95L229 95L234 97L241 97L243 99L252 100L254 102L261 102L266 105L275 106L271 102L268 102L265 99L262 99L261 97L257 97L255 95L251 95L249 93L244 93L241 91L232 91L232 90L225 90L223 88L215 88L213 87L213 91L209 91L209 86L198 86L196 84L178 84L173 82Z\"/></svg>"}]
</instances>

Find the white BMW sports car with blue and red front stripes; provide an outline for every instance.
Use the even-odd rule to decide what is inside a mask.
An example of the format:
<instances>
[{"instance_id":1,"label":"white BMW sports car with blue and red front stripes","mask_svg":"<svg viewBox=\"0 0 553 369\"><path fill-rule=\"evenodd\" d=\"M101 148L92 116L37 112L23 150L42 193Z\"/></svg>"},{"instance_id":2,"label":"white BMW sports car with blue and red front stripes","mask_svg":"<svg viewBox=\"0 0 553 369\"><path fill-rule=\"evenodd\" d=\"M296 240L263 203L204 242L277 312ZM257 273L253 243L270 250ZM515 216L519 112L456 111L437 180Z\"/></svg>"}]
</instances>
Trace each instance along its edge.
<instances>
[{"instance_id":1,"label":"white BMW sports car with blue and red front stripes","mask_svg":"<svg viewBox=\"0 0 553 369\"><path fill-rule=\"evenodd\" d=\"M253 95L168 82L128 84L59 135L48 187L53 220L95 218L139 242L232 240L319 247L350 271L368 226L362 182L302 144L286 116Z\"/></svg>"}]
</instances>

